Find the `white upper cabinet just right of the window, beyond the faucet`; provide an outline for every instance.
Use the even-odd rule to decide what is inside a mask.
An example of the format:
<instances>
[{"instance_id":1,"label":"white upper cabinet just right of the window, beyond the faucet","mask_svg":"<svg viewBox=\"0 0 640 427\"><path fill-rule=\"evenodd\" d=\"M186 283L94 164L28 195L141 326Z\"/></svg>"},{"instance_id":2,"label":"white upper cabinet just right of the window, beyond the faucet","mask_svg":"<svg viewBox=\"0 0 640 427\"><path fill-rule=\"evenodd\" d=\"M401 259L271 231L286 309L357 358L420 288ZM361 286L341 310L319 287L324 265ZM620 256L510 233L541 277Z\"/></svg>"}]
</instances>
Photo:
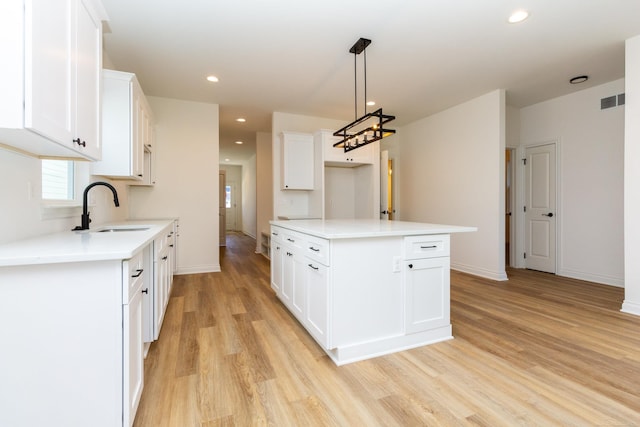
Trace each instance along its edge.
<instances>
[{"instance_id":1,"label":"white upper cabinet just right of the window, beyond the faucet","mask_svg":"<svg viewBox=\"0 0 640 427\"><path fill-rule=\"evenodd\" d=\"M102 84L102 160L91 171L152 185L152 114L142 88L135 74L114 70L103 70Z\"/></svg>"}]
</instances>

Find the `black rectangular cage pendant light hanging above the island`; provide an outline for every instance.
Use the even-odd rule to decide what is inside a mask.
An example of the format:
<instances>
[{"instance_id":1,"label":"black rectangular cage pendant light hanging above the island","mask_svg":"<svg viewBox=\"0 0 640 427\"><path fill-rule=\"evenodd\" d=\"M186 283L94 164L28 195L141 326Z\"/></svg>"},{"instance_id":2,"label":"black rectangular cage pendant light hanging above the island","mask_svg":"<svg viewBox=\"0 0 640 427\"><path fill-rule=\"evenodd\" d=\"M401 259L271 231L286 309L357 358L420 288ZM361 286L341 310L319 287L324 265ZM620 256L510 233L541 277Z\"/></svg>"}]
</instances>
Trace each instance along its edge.
<instances>
[{"instance_id":1,"label":"black rectangular cage pendant light hanging above the island","mask_svg":"<svg viewBox=\"0 0 640 427\"><path fill-rule=\"evenodd\" d=\"M367 113L367 46L371 40L360 38L349 49L353 53L353 69L355 79L355 120L340 130L333 133L340 137L340 141L333 144L334 147L344 148L345 153L356 148L364 147L374 141L396 133L393 129L385 129L384 125L395 119L395 116L382 113L378 108L373 113ZM364 115L358 118L358 55L364 52Z\"/></svg>"}]
</instances>

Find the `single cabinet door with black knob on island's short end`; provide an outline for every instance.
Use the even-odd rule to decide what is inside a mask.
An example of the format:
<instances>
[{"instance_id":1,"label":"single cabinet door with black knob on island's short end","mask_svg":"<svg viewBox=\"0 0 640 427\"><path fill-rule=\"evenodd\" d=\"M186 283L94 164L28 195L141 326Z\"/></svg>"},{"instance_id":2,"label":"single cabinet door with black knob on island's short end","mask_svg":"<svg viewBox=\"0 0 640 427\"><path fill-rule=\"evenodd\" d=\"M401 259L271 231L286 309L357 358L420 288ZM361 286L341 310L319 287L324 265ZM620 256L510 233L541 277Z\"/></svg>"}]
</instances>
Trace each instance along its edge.
<instances>
[{"instance_id":1,"label":"single cabinet door with black knob on island's short end","mask_svg":"<svg viewBox=\"0 0 640 427\"><path fill-rule=\"evenodd\" d=\"M449 321L449 258L404 262L405 332L446 326Z\"/></svg>"}]
</instances>

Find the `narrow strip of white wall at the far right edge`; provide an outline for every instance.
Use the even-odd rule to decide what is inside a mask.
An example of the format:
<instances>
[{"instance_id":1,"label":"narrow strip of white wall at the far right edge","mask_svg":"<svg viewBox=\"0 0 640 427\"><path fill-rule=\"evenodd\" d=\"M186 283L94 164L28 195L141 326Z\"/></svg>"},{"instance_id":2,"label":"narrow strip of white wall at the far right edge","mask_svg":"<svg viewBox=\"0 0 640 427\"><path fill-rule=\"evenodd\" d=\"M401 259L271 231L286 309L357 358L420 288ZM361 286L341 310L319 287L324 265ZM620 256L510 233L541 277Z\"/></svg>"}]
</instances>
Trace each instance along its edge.
<instances>
[{"instance_id":1,"label":"narrow strip of white wall at the far right edge","mask_svg":"<svg viewBox=\"0 0 640 427\"><path fill-rule=\"evenodd\" d=\"M626 42L624 130L624 303L640 315L640 36Z\"/></svg>"}]
</instances>

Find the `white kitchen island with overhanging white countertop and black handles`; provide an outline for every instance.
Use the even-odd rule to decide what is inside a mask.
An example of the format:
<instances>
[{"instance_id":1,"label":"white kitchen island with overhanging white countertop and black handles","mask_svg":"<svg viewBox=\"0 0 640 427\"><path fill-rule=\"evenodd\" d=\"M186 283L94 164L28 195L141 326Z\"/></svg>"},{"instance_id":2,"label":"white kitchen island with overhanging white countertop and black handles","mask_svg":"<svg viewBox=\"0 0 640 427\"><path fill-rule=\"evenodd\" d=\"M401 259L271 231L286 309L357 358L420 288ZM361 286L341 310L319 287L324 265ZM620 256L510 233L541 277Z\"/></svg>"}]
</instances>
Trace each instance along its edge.
<instances>
[{"instance_id":1,"label":"white kitchen island with overhanging white countertop and black handles","mask_svg":"<svg viewBox=\"0 0 640 427\"><path fill-rule=\"evenodd\" d=\"M449 237L471 231L271 221L271 287L337 365L451 339Z\"/></svg>"}]
</instances>

